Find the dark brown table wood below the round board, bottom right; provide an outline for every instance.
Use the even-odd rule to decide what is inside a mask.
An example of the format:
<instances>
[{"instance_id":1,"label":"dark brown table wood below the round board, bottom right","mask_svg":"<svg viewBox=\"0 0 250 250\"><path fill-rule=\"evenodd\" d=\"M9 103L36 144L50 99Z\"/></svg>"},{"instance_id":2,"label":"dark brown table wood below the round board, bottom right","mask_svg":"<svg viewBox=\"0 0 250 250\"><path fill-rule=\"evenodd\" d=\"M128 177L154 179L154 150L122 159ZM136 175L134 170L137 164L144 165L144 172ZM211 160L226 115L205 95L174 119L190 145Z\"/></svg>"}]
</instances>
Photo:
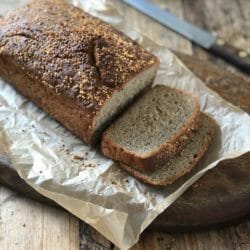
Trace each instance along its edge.
<instances>
[{"instance_id":1,"label":"dark brown table wood below the round board, bottom right","mask_svg":"<svg viewBox=\"0 0 250 250\"><path fill-rule=\"evenodd\" d=\"M143 233L140 242L132 250L249 250L250 222L218 230L197 233L168 234Z\"/></svg>"}]
</instances>

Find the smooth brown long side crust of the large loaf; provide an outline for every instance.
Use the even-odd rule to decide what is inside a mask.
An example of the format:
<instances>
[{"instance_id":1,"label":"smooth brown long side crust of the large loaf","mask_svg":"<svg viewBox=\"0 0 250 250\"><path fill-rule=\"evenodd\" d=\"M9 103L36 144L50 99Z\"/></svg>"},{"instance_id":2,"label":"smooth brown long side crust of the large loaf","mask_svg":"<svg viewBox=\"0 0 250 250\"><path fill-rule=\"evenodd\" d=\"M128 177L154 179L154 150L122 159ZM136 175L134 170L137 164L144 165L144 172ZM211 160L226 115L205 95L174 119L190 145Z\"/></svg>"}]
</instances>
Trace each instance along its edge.
<instances>
[{"instance_id":1,"label":"smooth brown long side crust of the large loaf","mask_svg":"<svg viewBox=\"0 0 250 250\"><path fill-rule=\"evenodd\" d=\"M15 63L11 58L2 59L0 57L0 65L8 65L7 70L0 67L0 75L22 95L42 107L74 134L86 141L91 141L92 134L88 130L91 120L86 117L84 110L79 109L73 101L65 99L61 95L55 95L53 89L41 88L39 82L33 81L28 75L25 75L25 72Z\"/></svg>"}]
</instances>

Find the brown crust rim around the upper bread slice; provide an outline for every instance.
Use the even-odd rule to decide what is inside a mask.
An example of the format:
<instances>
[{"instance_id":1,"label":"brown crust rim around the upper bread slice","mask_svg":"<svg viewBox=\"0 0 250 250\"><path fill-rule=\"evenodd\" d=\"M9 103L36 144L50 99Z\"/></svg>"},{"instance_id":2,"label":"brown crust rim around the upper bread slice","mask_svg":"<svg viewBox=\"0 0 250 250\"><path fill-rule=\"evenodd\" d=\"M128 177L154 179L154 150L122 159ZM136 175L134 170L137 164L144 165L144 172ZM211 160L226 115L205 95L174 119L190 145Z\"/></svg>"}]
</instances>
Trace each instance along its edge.
<instances>
[{"instance_id":1,"label":"brown crust rim around the upper bread slice","mask_svg":"<svg viewBox=\"0 0 250 250\"><path fill-rule=\"evenodd\" d=\"M155 86L154 88L162 88L162 85ZM149 90L150 91L150 90ZM151 151L143 156L135 152L129 151L117 144L108 136L108 132L112 130L112 126L103 134L102 138L102 153L109 158L122 162L124 164L133 166L140 171L154 171L156 168L164 165L166 160L175 155L182 149L189 138L192 137L195 131L200 126L201 112L198 98L186 93L182 90L176 90L181 92L183 95L188 95L196 102L195 110L192 116L188 119L186 124L174 134L170 140L163 143L160 147ZM143 97L142 97L143 98ZM135 103L136 105L136 103ZM129 110L127 111L129 112Z\"/></svg>"}]
</instances>

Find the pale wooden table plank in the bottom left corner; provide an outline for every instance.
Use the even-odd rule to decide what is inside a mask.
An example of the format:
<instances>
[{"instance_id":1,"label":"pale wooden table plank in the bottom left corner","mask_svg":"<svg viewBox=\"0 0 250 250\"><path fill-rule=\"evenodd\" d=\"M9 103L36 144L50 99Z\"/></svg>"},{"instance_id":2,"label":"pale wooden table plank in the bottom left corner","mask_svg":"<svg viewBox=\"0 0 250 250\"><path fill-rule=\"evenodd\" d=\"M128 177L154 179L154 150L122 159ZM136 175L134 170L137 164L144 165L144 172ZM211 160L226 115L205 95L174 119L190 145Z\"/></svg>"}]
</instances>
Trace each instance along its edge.
<instances>
[{"instance_id":1,"label":"pale wooden table plank in the bottom left corner","mask_svg":"<svg viewBox=\"0 0 250 250\"><path fill-rule=\"evenodd\" d=\"M0 249L79 249L79 221L0 187Z\"/></svg>"}]
</instances>

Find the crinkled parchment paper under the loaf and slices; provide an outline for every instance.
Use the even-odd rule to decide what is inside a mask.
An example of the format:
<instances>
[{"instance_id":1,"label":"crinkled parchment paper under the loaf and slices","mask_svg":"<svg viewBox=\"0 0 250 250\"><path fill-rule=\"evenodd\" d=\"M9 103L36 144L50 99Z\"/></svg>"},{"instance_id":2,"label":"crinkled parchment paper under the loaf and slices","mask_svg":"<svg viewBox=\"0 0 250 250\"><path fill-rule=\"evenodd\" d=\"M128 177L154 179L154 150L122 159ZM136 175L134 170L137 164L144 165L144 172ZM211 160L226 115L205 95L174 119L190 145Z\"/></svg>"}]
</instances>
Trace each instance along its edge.
<instances>
[{"instance_id":1,"label":"crinkled parchment paper under the loaf and slices","mask_svg":"<svg viewBox=\"0 0 250 250\"><path fill-rule=\"evenodd\" d=\"M11 2L11 4L10 4ZM0 14L27 1L1 1ZM0 139L19 175L41 194L92 225L120 248L140 233L208 169L250 150L250 117L208 89L166 47L124 23L112 1L78 5L139 41L161 59L155 84L195 93L218 123L216 138L195 171L166 188L144 185L86 146L0 80Z\"/></svg>"}]
</instances>

